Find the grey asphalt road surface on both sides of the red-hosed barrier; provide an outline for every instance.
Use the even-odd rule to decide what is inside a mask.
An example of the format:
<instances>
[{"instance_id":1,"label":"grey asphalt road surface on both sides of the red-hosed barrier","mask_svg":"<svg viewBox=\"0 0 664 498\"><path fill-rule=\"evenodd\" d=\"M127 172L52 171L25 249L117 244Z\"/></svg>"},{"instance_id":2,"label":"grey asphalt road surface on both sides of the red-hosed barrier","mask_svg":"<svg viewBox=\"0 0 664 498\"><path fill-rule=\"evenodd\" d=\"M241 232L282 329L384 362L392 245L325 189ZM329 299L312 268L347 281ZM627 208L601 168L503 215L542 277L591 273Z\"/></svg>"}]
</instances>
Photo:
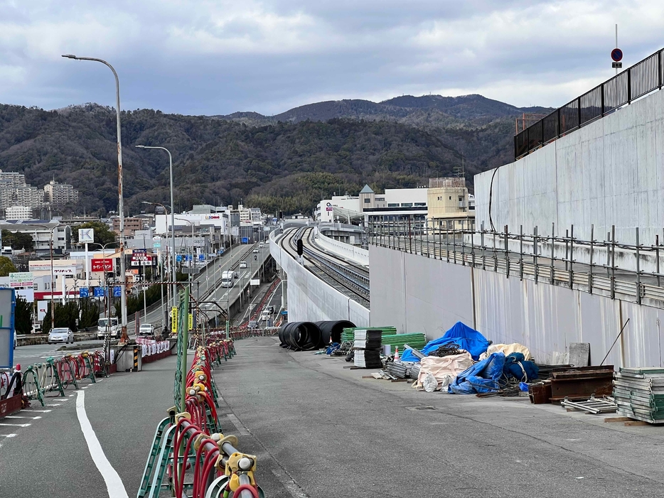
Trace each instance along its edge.
<instances>
[{"instance_id":1,"label":"grey asphalt road surface on both sides of the red-hosed barrier","mask_svg":"<svg viewBox=\"0 0 664 498\"><path fill-rule=\"evenodd\" d=\"M269 498L664 495L664 427L604 423L520 398L418 392L363 379L367 370L342 359L287 352L274 337L236 349L214 373L220 423L257 455ZM171 357L81 389L129 497L172 405L174 367ZM0 496L108 495L77 419L80 394L67 394L1 421L13 425L0 426Z\"/></svg>"}]
</instances>

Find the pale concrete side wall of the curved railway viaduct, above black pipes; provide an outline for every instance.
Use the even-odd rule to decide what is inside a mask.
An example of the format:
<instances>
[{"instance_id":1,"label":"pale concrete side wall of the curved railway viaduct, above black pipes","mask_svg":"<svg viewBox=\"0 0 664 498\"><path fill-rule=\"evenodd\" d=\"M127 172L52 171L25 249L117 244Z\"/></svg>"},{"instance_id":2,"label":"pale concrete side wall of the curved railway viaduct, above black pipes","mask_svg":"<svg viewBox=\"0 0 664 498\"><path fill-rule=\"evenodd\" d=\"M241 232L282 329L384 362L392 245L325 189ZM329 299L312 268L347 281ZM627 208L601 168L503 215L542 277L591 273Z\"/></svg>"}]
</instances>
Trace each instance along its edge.
<instances>
[{"instance_id":1,"label":"pale concrete side wall of the curved railway viaduct, above black pipes","mask_svg":"<svg viewBox=\"0 0 664 498\"><path fill-rule=\"evenodd\" d=\"M270 254L288 276L287 299L289 322L350 320L360 327L370 323L367 308L344 296L321 281L270 239Z\"/></svg>"}]
</instances>

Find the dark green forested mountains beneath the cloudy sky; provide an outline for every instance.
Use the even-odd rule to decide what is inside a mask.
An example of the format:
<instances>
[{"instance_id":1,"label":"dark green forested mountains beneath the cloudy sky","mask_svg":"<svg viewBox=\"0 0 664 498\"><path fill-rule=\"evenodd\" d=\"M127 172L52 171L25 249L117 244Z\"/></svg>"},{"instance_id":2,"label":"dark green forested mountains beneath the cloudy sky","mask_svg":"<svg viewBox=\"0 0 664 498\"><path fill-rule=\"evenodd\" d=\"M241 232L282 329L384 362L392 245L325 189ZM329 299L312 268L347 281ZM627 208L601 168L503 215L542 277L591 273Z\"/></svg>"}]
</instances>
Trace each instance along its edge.
<instances>
[{"instance_id":1,"label":"dark green forested mountains beneath the cloudy sky","mask_svg":"<svg viewBox=\"0 0 664 498\"><path fill-rule=\"evenodd\" d=\"M469 97L321 102L283 119L123 112L127 214L143 200L168 202L167 154L137 144L173 153L177 210L244 201L268 212L311 211L321 196L357 193L365 183L376 191L426 185L451 174L461 156L471 179L510 161L514 116L524 110ZM71 183L89 213L116 210L115 133L114 110L96 104L57 111L0 105L0 168L25 173L36 186L53 176Z\"/></svg>"}]
</instances>

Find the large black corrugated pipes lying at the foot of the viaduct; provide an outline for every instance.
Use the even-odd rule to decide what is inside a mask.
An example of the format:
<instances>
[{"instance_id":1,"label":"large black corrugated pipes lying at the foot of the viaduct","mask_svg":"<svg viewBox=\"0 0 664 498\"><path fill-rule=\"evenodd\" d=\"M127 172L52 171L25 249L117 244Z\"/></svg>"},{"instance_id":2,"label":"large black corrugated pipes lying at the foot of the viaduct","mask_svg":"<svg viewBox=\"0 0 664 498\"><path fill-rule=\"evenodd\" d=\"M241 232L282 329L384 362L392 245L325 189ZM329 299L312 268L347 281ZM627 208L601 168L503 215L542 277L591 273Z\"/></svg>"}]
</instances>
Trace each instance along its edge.
<instances>
[{"instance_id":1,"label":"large black corrugated pipes lying at the foot of the viaduct","mask_svg":"<svg viewBox=\"0 0 664 498\"><path fill-rule=\"evenodd\" d=\"M294 351L318 350L330 342L340 342L344 328L355 327L348 320L289 322L279 328L280 346Z\"/></svg>"}]
</instances>

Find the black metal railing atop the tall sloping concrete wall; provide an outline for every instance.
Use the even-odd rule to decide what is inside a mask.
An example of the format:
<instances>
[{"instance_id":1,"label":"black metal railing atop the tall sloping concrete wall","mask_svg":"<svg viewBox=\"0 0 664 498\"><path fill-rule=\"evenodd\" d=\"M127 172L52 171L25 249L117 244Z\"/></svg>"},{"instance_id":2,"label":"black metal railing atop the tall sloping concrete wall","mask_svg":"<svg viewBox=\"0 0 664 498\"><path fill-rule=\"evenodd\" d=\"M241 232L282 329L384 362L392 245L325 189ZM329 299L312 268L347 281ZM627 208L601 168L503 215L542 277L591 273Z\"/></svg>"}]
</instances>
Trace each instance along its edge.
<instances>
[{"instance_id":1,"label":"black metal railing atop the tall sloping concrete wall","mask_svg":"<svg viewBox=\"0 0 664 498\"><path fill-rule=\"evenodd\" d=\"M521 158L645 94L660 90L664 80L663 58L664 49L658 50L520 131L514 136L514 158Z\"/></svg>"}]
</instances>

